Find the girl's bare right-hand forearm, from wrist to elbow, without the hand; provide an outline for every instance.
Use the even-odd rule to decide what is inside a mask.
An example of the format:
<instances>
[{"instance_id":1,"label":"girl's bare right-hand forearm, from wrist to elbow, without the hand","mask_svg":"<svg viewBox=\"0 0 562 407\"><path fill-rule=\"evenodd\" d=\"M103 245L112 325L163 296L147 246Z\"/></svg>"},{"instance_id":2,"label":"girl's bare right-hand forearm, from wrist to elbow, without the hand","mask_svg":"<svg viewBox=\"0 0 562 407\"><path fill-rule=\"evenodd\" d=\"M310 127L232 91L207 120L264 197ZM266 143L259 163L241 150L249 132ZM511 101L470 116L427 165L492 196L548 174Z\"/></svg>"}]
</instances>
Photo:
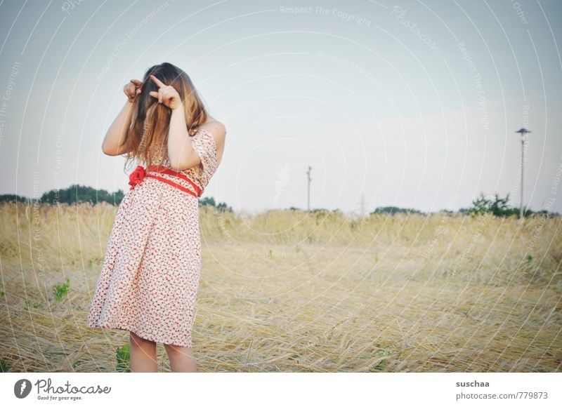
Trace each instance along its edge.
<instances>
[{"instance_id":1,"label":"girl's bare right-hand forearm, from wrist to elbow, without the hand","mask_svg":"<svg viewBox=\"0 0 562 407\"><path fill-rule=\"evenodd\" d=\"M200 163L200 157L195 153L191 144L188 125L185 123L185 109L181 102L171 111L168 157L171 168L176 171L185 171Z\"/></svg>"}]
</instances>

